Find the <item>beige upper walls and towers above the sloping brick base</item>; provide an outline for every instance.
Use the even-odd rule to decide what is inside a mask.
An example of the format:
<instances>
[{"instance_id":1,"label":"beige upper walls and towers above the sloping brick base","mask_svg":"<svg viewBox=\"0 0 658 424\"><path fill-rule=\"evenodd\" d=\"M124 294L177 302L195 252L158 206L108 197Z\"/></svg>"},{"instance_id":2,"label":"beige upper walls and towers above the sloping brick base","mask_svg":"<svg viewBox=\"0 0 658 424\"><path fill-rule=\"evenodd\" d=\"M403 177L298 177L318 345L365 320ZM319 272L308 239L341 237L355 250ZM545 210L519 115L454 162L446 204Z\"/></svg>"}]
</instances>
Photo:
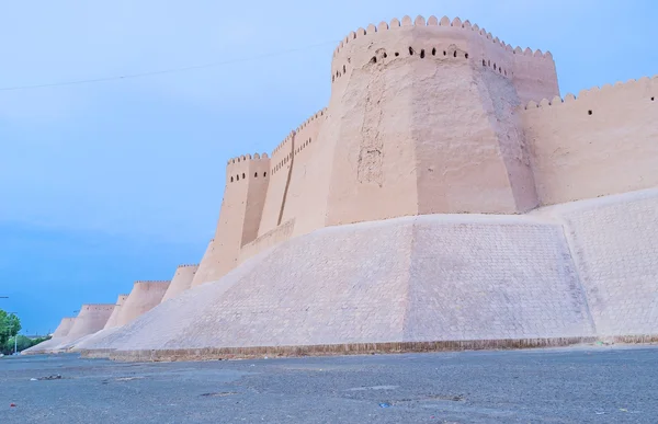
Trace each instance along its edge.
<instances>
[{"instance_id":1,"label":"beige upper walls and towers above the sloping brick base","mask_svg":"<svg viewBox=\"0 0 658 424\"><path fill-rule=\"evenodd\" d=\"M468 21L405 16L359 28L333 53L328 106L270 159L254 156L260 173L240 171L251 156L229 161L193 286L327 226L523 214L656 186L657 81L563 101L551 53L512 47Z\"/></svg>"}]
</instances>

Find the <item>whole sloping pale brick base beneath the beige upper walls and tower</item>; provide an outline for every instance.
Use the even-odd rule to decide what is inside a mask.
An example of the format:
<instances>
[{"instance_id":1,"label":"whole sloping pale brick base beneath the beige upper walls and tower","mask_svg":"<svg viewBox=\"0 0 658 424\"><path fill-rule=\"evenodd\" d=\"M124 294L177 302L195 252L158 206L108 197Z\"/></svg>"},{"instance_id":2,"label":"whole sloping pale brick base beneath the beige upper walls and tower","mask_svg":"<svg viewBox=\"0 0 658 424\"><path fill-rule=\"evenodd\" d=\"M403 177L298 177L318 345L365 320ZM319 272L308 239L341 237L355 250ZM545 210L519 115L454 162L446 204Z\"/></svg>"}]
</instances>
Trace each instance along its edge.
<instances>
[{"instance_id":1,"label":"whole sloping pale brick base beneath the beige upper walls and tower","mask_svg":"<svg viewBox=\"0 0 658 424\"><path fill-rule=\"evenodd\" d=\"M656 341L657 219L653 188L328 227L87 348L152 360Z\"/></svg>"}]
</instances>

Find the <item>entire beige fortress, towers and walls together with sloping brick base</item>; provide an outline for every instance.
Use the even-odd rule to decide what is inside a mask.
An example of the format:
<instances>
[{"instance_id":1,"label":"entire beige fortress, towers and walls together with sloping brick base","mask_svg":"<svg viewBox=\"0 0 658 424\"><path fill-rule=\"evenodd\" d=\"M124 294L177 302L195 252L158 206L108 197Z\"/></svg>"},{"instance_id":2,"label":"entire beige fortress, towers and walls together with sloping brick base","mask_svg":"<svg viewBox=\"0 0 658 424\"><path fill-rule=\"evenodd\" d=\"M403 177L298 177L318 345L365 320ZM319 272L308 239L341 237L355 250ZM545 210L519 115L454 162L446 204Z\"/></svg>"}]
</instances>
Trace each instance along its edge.
<instances>
[{"instance_id":1,"label":"entire beige fortress, towers and walls together with sloping brick base","mask_svg":"<svg viewBox=\"0 0 658 424\"><path fill-rule=\"evenodd\" d=\"M551 53L434 16L350 33L330 77L271 154L228 161L201 263L136 283L77 349L658 341L657 77L563 99Z\"/></svg>"}]
</instances>

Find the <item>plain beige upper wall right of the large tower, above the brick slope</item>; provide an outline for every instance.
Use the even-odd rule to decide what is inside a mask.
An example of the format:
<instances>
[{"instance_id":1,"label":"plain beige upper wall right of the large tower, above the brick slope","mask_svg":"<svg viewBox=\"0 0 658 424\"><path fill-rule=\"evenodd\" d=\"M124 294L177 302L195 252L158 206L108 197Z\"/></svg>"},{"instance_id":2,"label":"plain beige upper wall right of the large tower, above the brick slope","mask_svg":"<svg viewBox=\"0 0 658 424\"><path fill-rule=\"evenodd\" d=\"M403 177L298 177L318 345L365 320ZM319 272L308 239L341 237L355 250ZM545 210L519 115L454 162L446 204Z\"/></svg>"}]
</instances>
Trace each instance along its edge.
<instances>
[{"instance_id":1,"label":"plain beige upper wall right of the large tower, above the brick slope","mask_svg":"<svg viewBox=\"0 0 658 424\"><path fill-rule=\"evenodd\" d=\"M522 115L541 203L658 186L657 99L654 77L529 103Z\"/></svg>"}]
</instances>

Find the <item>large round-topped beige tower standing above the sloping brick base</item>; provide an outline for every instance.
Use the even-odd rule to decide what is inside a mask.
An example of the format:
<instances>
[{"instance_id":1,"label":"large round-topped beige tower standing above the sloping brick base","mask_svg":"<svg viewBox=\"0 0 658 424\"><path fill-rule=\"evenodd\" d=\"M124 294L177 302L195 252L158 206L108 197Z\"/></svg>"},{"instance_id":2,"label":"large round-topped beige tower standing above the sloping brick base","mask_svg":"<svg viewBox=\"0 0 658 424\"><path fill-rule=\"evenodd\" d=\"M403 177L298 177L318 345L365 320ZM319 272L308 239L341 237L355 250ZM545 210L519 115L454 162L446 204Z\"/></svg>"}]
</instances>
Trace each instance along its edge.
<instances>
[{"instance_id":1,"label":"large round-topped beige tower standing above the sloping brick base","mask_svg":"<svg viewBox=\"0 0 658 424\"><path fill-rule=\"evenodd\" d=\"M345 37L331 81L327 225L537 205L515 111L558 94L549 54L468 21L406 16Z\"/></svg>"}]
</instances>

